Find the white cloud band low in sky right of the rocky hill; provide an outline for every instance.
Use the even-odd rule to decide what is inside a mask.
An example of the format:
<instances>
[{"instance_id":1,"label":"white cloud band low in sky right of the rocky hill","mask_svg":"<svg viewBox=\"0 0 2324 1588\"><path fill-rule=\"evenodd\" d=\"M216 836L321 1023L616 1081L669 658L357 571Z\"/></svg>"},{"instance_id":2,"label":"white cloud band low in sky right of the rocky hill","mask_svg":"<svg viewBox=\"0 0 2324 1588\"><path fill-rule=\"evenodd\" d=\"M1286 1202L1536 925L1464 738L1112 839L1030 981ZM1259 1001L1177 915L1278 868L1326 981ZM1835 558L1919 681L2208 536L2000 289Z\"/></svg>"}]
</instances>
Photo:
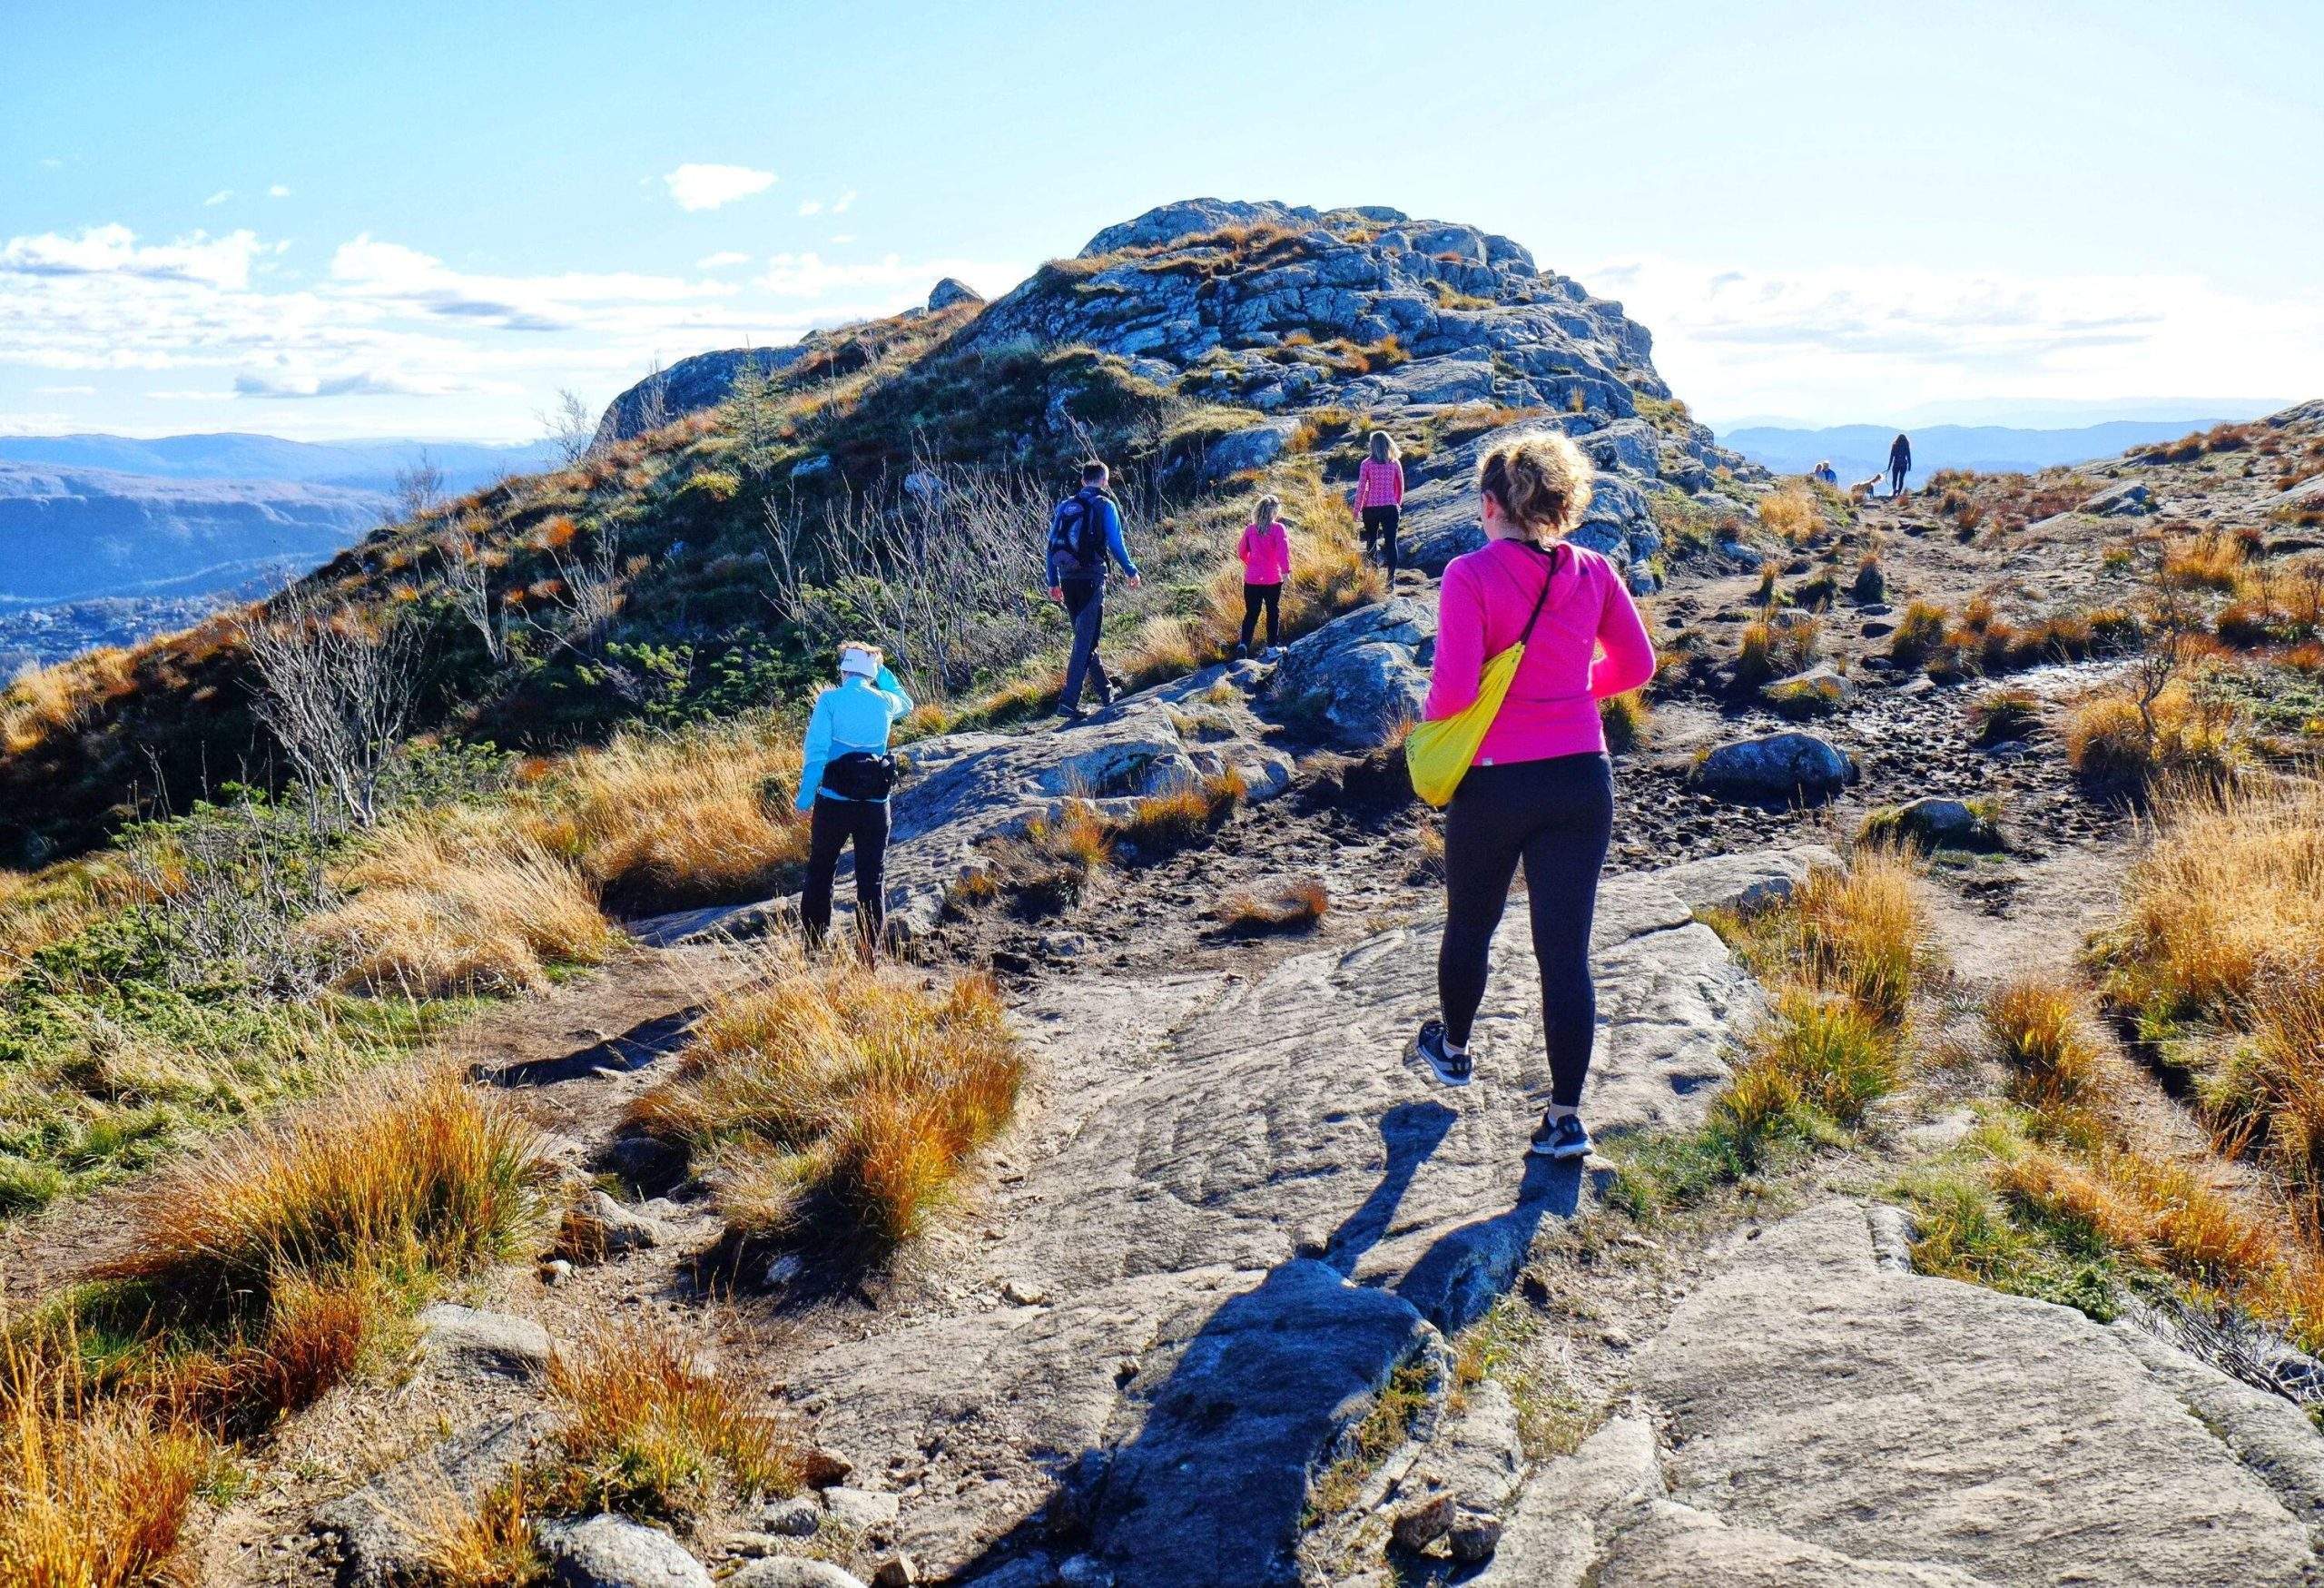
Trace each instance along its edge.
<instances>
[{"instance_id":1,"label":"white cloud band low in sky right of the rocky hill","mask_svg":"<svg viewBox=\"0 0 2324 1588\"><path fill-rule=\"evenodd\" d=\"M1578 272L1655 332L1697 412L1817 423L1948 400L2301 395L2324 293L2268 300L2201 277L1720 270L1669 258Z\"/></svg>"}]
</instances>

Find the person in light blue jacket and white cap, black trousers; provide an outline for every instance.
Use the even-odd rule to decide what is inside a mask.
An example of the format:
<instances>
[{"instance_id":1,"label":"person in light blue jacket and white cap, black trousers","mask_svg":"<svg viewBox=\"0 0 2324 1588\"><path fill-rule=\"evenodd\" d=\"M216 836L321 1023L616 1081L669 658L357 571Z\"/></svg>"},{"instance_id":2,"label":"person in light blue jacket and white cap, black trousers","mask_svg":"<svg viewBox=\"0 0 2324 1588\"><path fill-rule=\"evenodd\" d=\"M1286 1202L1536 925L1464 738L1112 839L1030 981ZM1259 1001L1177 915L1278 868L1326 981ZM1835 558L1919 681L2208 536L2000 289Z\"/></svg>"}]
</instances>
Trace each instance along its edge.
<instances>
[{"instance_id":1,"label":"person in light blue jacket and white cap, black trousers","mask_svg":"<svg viewBox=\"0 0 2324 1588\"><path fill-rule=\"evenodd\" d=\"M809 946L832 928L832 879L839 851L855 844L855 930L867 956L888 928L888 793L895 758L888 735L911 711L911 695L888 672L878 646L839 646L839 686L816 695L799 767L799 809L813 811L799 921Z\"/></svg>"}]
</instances>

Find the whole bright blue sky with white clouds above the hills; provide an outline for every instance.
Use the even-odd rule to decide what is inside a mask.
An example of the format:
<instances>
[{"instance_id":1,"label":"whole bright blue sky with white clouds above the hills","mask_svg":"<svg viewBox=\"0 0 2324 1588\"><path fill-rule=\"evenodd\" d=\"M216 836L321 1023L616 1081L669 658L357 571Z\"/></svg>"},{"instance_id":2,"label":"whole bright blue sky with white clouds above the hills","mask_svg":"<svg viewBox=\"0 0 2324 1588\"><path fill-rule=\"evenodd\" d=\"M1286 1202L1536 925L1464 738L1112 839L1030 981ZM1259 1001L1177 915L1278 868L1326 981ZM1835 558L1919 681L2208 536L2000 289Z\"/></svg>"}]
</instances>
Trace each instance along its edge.
<instances>
[{"instance_id":1,"label":"whole bright blue sky with white clouds above the hills","mask_svg":"<svg viewBox=\"0 0 2324 1588\"><path fill-rule=\"evenodd\" d=\"M1508 233L1713 423L2324 388L2324 5L0 0L0 430L525 437L1197 193Z\"/></svg>"}]
</instances>

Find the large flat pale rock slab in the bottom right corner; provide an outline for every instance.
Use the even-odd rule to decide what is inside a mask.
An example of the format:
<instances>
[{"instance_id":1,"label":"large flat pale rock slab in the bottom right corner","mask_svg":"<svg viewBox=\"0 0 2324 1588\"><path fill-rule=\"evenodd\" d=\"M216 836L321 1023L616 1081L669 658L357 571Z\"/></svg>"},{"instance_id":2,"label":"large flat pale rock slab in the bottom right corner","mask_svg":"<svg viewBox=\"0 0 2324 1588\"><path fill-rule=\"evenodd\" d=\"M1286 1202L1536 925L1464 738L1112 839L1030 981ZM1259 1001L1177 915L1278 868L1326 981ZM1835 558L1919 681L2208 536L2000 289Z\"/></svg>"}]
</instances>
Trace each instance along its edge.
<instances>
[{"instance_id":1,"label":"large flat pale rock slab in the bottom right corner","mask_svg":"<svg viewBox=\"0 0 2324 1588\"><path fill-rule=\"evenodd\" d=\"M1885 1267L1857 1202L1752 1237L1638 1353L1638 1414L1532 1476L1480 1588L2315 1581L2324 1451L2289 1402Z\"/></svg>"}]
</instances>

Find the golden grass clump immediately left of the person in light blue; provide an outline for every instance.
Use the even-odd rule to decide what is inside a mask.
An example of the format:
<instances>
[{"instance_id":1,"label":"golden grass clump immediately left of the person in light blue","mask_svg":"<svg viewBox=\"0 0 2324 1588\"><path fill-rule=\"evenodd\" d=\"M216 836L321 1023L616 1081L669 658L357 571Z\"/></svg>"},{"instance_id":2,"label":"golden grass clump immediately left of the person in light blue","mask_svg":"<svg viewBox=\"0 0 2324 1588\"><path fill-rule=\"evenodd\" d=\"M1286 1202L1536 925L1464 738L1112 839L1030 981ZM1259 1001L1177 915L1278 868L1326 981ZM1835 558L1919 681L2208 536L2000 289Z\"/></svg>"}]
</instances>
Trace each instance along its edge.
<instances>
[{"instance_id":1,"label":"golden grass clump immediately left of the person in light blue","mask_svg":"<svg viewBox=\"0 0 2324 1588\"><path fill-rule=\"evenodd\" d=\"M806 863L799 749L765 728L621 735L535 791L528 832L621 909L765 897Z\"/></svg>"}]
</instances>

